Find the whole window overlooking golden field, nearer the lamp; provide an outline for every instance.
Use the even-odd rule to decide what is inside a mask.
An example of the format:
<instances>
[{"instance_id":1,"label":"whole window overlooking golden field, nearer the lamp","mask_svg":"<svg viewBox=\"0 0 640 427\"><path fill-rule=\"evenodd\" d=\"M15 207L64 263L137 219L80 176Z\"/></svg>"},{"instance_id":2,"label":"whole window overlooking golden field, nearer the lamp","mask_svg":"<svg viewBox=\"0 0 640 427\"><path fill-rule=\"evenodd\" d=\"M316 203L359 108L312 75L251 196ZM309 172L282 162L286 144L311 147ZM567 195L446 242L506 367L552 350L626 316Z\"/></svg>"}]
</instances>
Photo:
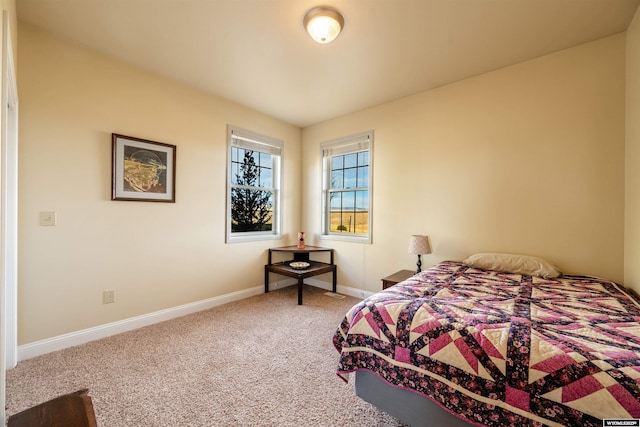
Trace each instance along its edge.
<instances>
[{"instance_id":1,"label":"whole window overlooking golden field, nearer the lamp","mask_svg":"<svg viewBox=\"0 0 640 427\"><path fill-rule=\"evenodd\" d=\"M321 238L371 243L373 132L323 143Z\"/></svg>"}]
</instances>

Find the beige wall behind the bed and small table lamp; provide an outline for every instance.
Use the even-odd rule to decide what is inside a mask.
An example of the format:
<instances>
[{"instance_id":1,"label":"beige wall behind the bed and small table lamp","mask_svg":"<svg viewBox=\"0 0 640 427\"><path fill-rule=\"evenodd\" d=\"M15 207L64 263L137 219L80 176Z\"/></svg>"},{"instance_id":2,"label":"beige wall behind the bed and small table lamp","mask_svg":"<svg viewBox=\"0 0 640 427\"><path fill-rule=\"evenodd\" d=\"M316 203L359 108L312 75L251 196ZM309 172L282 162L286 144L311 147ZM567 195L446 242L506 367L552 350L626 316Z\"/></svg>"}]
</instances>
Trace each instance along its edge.
<instances>
[{"instance_id":1,"label":"beige wall behind the bed and small table lamp","mask_svg":"<svg viewBox=\"0 0 640 427\"><path fill-rule=\"evenodd\" d=\"M415 268L480 251L543 256L623 279L625 35L303 130L303 228L337 249L338 282L379 290ZM320 241L323 141L373 129L373 244Z\"/></svg>"}]
</instances>

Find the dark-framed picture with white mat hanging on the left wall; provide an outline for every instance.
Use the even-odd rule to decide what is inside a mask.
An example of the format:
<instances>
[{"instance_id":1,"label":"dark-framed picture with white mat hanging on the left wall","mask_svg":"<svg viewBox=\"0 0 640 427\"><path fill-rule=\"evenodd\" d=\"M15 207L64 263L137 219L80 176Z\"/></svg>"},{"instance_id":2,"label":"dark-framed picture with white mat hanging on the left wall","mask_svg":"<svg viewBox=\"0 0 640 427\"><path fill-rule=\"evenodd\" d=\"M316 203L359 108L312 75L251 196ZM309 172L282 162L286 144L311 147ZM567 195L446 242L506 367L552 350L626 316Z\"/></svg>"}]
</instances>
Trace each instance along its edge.
<instances>
[{"instance_id":1,"label":"dark-framed picture with white mat hanging on the left wall","mask_svg":"<svg viewBox=\"0 0 640 427\"><path fill-rule=\"evenodd\" d=\"M176 146L111 134L111 200L176 201Z\"/></svg>"}]
</instances>

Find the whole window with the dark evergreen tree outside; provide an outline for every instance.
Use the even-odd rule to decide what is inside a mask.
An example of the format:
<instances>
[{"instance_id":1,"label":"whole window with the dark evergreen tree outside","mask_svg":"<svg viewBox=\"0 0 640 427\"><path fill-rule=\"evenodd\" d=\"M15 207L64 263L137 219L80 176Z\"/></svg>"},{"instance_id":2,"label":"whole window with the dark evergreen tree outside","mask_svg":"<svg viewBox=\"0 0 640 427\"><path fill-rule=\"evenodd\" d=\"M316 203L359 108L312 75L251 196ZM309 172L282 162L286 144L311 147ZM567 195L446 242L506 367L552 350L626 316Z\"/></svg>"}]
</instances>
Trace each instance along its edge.
<instances>
[{"instance_id":1,"label":"whole window with the dark evergreen tree outside","mask_svg":"<svg viewBox=\"0 0 640 427\"><path fill-rule=\"evenodd\" d=\"M280 237L282 141L229 126L227 243Z\"/></svg>"}]
</instances>

